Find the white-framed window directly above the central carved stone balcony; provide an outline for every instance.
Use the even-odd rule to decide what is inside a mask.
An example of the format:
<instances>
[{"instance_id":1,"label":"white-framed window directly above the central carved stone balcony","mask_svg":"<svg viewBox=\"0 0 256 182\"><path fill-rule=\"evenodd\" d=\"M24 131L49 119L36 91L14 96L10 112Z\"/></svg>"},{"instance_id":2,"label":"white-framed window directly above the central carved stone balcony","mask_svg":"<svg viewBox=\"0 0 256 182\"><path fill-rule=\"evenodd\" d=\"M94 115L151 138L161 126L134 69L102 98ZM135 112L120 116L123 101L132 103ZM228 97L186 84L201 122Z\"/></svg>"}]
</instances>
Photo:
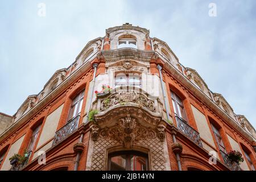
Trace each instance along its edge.
<instances>
[{"instance_id":1,"label":"white-framed window directly above the central carved stone balcony","mask_svg":"<svg viewBox=\"0 0 256 182\"><path fill-rule=\"evenodd\" d=\"M141 76L138 73L119 73L115 76L115 88L118 86L135 86L141 88Z\"/></svg>"}]
</instances>

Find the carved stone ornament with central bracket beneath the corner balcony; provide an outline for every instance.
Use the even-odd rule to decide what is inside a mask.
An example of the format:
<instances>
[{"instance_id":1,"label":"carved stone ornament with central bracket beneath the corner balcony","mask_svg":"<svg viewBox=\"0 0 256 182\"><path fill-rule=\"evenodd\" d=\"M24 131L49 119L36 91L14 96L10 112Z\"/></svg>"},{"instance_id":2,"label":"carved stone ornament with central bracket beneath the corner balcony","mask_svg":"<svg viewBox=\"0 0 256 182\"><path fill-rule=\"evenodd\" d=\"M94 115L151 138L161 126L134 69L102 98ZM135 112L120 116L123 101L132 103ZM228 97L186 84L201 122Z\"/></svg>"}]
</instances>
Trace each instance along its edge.
<instances>
[{"instance_id":1,"label":"carved stone ornament with central bracket beneath the corner balcony","mask_svg":"<svg viewBox=\"0 0 256 182\"><path fill-rule=\"evenodd\" d=\"M132 118L130 114L127 117L118 120L113 127L105 127L100 129L96 126L92 126L92 140L96 141L98 137L107 140L115 140L117 142L123 143L123 147L131 148L134 143L143 139L154 139L159 138L160 141L164 140L164 130L165 127L158 125L156 129L151 127L142 126L137 122L137 119Z\"/></svg>"}]
</instances>

